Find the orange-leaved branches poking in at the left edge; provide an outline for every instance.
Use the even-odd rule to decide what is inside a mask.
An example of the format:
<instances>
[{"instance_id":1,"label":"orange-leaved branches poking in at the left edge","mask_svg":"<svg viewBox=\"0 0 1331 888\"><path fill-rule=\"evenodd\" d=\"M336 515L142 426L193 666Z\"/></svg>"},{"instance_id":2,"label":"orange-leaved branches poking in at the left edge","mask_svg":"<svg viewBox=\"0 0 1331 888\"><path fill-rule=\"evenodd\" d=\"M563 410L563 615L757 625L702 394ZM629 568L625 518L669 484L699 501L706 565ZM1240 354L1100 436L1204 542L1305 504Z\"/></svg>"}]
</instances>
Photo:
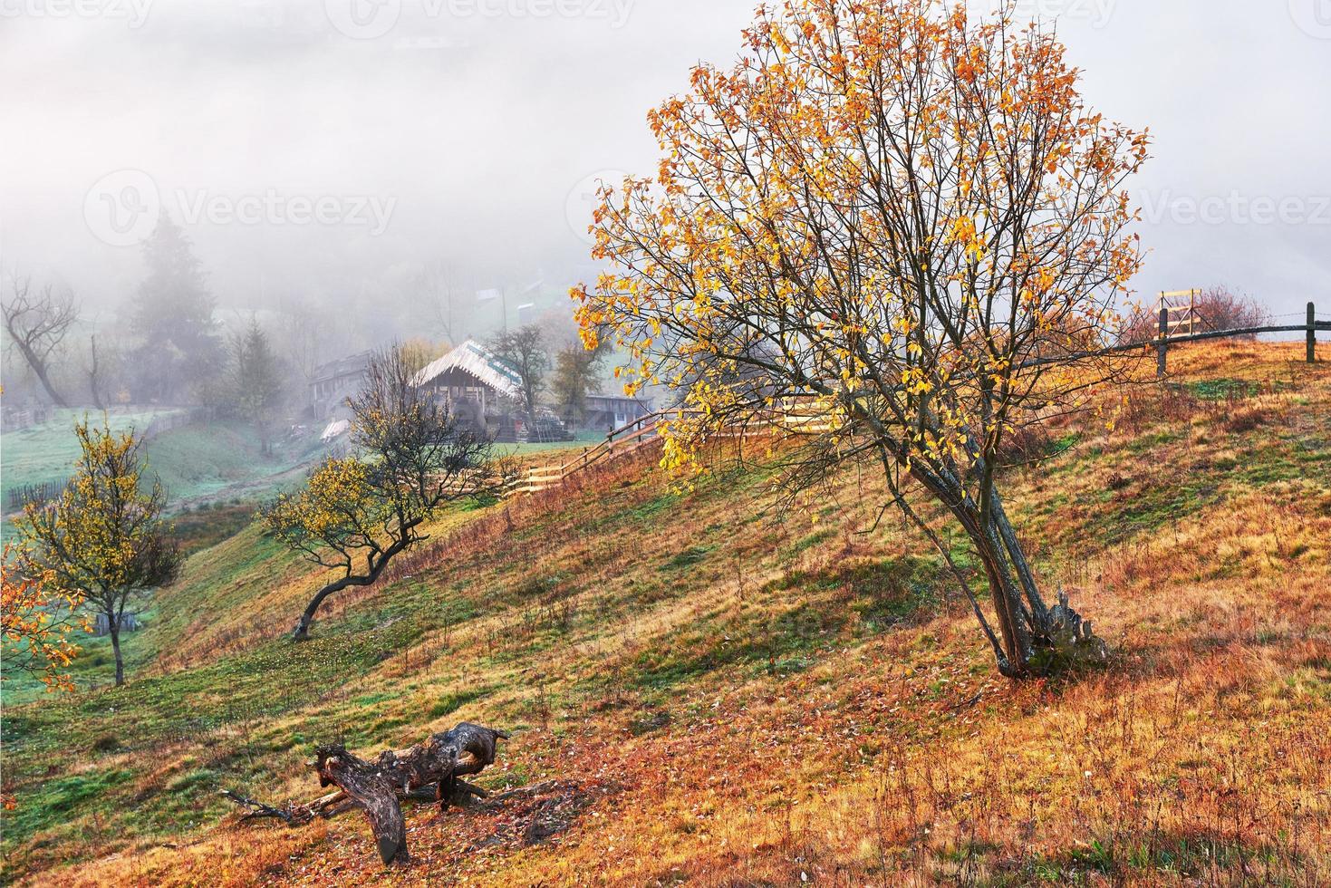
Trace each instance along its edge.
<instances>
[{"instance_id":1,"label":"orange-leaved branches poking in at the left edge","mask_svg":"<svg viewBox=\"0 0 1331 888\"><path fill-rule=\"evenodd\" d=\"M51 691L72 691L64 668L77 656L79 646L69 635L87 628L76 611L79 598L63 591L51 571L28 574L20 560L16 547L5 543L0 556L0 678L17 670L36 675Z\"/></svg>"}]
</instances>

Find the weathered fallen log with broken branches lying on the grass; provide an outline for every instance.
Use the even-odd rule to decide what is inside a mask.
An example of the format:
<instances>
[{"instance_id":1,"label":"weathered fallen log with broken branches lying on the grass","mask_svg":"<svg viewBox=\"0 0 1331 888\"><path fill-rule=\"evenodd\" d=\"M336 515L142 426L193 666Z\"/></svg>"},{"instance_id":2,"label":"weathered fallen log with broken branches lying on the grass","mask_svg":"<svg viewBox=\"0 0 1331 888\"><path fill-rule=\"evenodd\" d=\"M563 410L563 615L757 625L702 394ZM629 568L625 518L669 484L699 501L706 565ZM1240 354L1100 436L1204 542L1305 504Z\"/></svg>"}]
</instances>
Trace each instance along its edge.
<instances>
[{"instance_id":1,"label":"weathered fallen log with broken branches lying on the grass","mask_svg":"<svg viewBox=\"0 0 1331 888\"><path fill-rule=\"evenodd\" d=\"M373 762L361 759L338 744L322 746L311 767L319 785L337 787L303 805L278 808L230 789L222 795L249 808L242 821L272 817L290 827L303 825L315 816L333 817L362 808L374 832L383 863L406 859L406 821L399 799L435 801L446 809L451 801L488 797L488 792L462 777L480 774L494 764L499 740L508 734L463 722L445 734L409 750L385 751Z\"/></svg>"}]
</instances>

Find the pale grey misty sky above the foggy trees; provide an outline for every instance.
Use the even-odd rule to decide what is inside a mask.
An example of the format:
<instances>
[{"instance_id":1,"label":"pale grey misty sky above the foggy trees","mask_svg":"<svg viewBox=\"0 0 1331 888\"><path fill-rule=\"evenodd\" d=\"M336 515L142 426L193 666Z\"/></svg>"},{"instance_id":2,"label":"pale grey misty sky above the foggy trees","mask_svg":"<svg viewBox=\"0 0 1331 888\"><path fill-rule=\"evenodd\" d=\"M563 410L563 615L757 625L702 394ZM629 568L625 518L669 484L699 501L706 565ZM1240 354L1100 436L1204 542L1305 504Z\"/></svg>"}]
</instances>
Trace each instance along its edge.
<instances>
[{"instance_id":1,"label":"pale grey misty sky above the foggy trees","mask_svg":"<svg viewBox=\"0 0 1331 888\"><path fill-rule=\"evenodd\" d=\"M142 262L113 242L156 200L226 306L425 261L564 286L588 178L652 170L646 111L729 63L753 5L0 0L0 268L120 305ZM1331 0L1024 8L1059 19L1090 104L1154 133L1138 290L1331 309Z\"/></svg>"}]
</instances>

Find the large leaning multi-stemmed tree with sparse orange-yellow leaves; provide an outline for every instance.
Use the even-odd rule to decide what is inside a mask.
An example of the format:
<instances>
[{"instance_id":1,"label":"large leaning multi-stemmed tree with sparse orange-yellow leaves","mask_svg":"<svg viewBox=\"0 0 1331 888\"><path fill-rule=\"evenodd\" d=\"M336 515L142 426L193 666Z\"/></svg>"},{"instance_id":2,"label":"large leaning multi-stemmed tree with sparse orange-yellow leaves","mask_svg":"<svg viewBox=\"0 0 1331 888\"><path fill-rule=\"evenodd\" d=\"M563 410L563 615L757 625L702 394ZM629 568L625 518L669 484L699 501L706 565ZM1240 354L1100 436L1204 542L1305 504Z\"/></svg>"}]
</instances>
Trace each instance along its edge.
<instances>
[{"instance_id":1,"label":"large leaning multi-stemmed tree with sparse orange-yellow leaves","mask_svg":"<svg viewBox=\"0 0 1331 888\"><path fill-rule=\"evenodd\" d=\"M760 8L729 71L650 114L652 178L602 190L578 288L588 345L610 325L635 378L685 391L668 463L720 429L787 429L793 489L872 458L889 502L953 563L928 499L988 579L957 570L998 668L1102 650L1053 607L1000 494L1005 443L1114 375L1082 353L1139 264L1125 180L1143 134L1078 93L1065 49L1009 4Z\"/></svg>"}]
</instances>

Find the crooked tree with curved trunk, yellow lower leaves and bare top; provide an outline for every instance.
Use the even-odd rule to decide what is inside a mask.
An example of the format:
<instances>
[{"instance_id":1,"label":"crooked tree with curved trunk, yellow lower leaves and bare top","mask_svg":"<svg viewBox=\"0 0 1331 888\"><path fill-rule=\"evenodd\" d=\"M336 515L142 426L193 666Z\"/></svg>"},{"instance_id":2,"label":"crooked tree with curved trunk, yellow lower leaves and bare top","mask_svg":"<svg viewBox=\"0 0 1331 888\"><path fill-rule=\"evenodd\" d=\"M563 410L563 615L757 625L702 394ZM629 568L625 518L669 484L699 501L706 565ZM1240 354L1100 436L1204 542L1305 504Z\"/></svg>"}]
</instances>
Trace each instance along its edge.
<instances>
[{"instance_id":1,"label":"crooked tree with curved trunk, yellow lower leaves and bare top","mask_svg":"<svg viewBox=\"0 0 1331 888\"><path fill-rule=\"evenodd\" d=\"M495 489L491 442L415 386L417 363L402 346L375 354L349 402L354 453L326 459L303 490L260 513L270 534L338 574L310 599L295 640L309 638L330 595L373 586L389 562L426 542L425 527L449 503Z\"/></svg>"}]
</instances>

